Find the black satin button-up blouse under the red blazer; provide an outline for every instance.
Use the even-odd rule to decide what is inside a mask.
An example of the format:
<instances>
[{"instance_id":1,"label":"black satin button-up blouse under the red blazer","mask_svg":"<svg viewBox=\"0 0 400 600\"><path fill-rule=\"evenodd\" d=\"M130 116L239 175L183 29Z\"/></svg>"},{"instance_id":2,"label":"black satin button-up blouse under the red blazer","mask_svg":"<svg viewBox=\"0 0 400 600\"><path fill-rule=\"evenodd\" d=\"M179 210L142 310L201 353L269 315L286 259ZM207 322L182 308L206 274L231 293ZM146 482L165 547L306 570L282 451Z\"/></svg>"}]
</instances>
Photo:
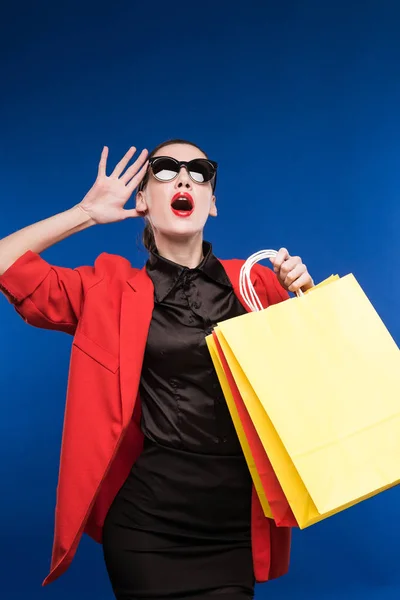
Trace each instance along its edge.
<instances>
[{"instance_id":1,"label":"black satin button-up blouse under the red blazer","mask_svg":"<svg viewBox=\"0 0 400 600\"><path fill-rule=\"evenodd\" d=\"M205 454L241 454L205 337L219 321L246 312L222 264L204 242L194 269L152 253L146 264L155 305L140 395L147 438Z\"/></svg>"}]
</instances>

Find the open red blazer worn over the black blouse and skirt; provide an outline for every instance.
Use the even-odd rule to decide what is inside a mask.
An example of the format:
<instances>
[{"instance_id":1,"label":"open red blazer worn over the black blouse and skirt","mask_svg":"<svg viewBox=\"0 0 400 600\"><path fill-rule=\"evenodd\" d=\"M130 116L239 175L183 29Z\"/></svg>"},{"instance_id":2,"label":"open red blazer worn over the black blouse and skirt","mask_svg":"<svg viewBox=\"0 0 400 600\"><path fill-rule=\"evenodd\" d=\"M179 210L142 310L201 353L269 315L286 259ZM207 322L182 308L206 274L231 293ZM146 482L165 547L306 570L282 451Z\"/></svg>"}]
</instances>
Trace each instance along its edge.
<instances>
[{"instance_id":1,"label":"open red blazer worn over the black blouse and skirt","mask_svg":"<svg viewBox=\"0 0 400 600\"><path fill-rule=\"evenodd\" d=\"M244 304L243 261L221 263ZM256 265L252 281L265 307L288 297L271 269ZM103 253L93 266L68 269L28 251L0 277L0 289L30 325L74 336L46 585L67 570L83 533L101 542L107 511L141 452L138 389L153 284L145 269L132 268L121 256ZM290 539L290 528L264 517L253 487L258 582L287 572Z\"/></svg>"}]
</instances>

